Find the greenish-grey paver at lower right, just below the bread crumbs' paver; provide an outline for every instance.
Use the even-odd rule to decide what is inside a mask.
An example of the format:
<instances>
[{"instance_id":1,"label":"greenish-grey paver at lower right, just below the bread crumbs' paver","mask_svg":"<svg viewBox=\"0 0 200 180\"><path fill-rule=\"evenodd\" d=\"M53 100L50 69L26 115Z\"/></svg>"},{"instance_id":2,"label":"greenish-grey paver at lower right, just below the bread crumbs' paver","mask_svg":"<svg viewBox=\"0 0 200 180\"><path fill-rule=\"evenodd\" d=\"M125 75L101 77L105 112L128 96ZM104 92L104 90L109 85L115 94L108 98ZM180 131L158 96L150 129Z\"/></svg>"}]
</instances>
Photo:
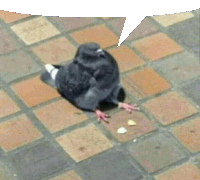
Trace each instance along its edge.
<instances>
[{"instance_id":1,"label":"greenish-grey paver at lower right, just below the bread crumbs' paver","mask_svg":"<svg viewBox=\"0 0 200 180\"><path fill-rule=\"evenodd\" d=\"M129 152L148 172L155 172L185 157L173 139L166 134L158 134L131 144Z\"/></svg>"}]
</instances>

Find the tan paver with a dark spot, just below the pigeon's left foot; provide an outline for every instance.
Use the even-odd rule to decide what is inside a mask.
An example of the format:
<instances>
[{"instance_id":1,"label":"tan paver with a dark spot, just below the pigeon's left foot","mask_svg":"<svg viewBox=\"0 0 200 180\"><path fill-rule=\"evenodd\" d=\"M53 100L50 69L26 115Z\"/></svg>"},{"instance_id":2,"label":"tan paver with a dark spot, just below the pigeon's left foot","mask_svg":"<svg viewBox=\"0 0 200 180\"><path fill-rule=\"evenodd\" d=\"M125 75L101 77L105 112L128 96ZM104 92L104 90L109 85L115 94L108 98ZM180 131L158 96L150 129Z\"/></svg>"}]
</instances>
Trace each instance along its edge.
<instances>
[{"instance_id":1,"label":"tan paver with a dark spot, just below the pigeon's left foot","mask_svg":"<svg viewBox=\"0 0 200 180\"><path fill-rule=\"evenodd\" d=\"M62 135L57 138L57 141L76 162L113 146L93 124Z\"/></svg>"}]
</instances>

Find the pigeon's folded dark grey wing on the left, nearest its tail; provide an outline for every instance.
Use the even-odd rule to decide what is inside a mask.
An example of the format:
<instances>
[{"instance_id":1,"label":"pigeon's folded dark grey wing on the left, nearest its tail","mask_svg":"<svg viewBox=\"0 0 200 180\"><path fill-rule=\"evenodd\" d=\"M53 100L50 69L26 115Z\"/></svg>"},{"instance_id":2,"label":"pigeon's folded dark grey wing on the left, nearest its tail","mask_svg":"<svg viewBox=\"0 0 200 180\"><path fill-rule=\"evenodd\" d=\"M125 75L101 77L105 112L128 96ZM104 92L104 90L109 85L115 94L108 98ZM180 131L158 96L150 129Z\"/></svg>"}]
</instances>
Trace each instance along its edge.
<instances>
[{"instance_id":1,"label":"pigeon's folded dark grey wing on the left, nearest its tail","mask_svg":"<svg viewBox=\"0 0 200 180\"><path fill-rule=\"evenodd\" d=\"M56 86L59 92L79 108L94 110L99 100L92 90L94 78L77 64L71 63L58 71Z\"/></svg>"}]
</instances>

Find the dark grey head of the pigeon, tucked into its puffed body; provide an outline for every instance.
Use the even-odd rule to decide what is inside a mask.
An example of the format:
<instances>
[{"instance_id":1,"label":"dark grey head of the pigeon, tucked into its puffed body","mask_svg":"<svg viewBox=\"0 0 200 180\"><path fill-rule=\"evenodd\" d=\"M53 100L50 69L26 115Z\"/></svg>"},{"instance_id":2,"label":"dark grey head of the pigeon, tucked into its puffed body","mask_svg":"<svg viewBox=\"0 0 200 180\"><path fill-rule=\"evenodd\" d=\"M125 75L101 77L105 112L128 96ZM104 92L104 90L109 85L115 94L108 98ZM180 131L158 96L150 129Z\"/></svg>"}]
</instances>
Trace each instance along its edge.
<instances>
[{"instance_id":1,"label":"dark grey head of the pigeon, tucked into its puffed body","mask_svg":"<svg viewBox=\"0 0 200 180\"><path fill-rule=\"evenodd\" d=\"M76 56L88 59L98 59L99 57L104 57L105 53L104 50L100 48L99 44L89 42L79 46Z\"/></svg>"}]
</instances>

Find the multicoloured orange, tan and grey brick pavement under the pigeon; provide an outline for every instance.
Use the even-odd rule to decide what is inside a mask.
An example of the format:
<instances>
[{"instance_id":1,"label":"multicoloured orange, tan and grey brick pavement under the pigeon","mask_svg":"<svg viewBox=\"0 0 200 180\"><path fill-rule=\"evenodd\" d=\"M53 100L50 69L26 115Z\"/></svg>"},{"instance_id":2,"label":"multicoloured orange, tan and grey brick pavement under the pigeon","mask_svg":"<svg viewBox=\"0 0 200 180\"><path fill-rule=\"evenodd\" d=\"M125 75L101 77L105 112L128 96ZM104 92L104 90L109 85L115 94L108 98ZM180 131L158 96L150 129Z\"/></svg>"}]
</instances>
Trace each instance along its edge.
<instances>
[{"instance_id":1,"label":"multicoloured orange, tan and grey brick pavement under the pigeon","mask_svg":"<svg viewBox=\"0 0 200 180\"><path fill-rule=\"evenodd\" d=\"M124 17L0 10L0 179L199 180L199 12L146 17L116 49ZM105 108L99 124L40 81L44 64L71 62L88 41L116 58L140 111Z\"/></svg>"}]
</instances>

